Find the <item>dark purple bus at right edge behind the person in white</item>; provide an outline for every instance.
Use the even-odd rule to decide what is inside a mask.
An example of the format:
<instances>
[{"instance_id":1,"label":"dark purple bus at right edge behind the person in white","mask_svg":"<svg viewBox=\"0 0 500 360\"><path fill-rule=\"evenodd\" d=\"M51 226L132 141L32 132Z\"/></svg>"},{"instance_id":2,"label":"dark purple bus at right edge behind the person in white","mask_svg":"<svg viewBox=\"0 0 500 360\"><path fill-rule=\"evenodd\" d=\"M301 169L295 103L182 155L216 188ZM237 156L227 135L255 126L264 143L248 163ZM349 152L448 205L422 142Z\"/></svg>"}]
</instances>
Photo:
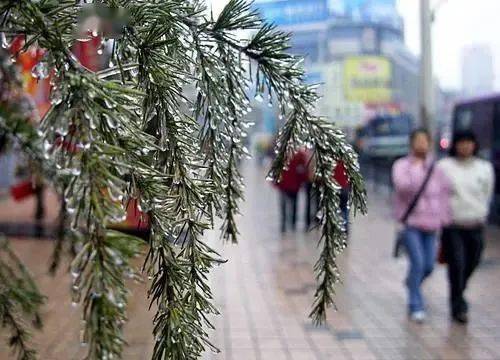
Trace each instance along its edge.
<instances>
[{"instance_id":1,"label":"dark purple bus at right edge behind the person in white","mask_svg":"<svg viewBox=\"0 0 500 360\"><path fill-rule=\"evenodd\" d=\"M453 133L472 130L480 145L479 156L492 162L495 169L495 195L491 220L500 224L500 93L473 98L455 104Z\"/></svg>"}]
</instances>

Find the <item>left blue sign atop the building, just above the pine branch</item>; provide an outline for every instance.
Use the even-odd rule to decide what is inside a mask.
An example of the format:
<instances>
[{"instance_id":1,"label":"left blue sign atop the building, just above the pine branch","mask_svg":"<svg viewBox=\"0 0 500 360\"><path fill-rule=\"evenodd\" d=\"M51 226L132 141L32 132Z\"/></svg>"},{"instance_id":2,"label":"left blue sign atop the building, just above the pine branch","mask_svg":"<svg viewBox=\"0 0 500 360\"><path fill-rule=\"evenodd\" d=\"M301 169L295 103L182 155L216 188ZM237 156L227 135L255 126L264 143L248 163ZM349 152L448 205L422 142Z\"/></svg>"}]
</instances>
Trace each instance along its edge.
<instances>
[{"instance_id":1,"label":"left blue sign atop the building, just above the pine branch","mask_svg":"<svg viewBox=\"0 0 500 360\"><path fill-rule=\"evenodd\" d=\"M253 7L276 25L311 23L329 17L327 0L260 0Z\"/></svg>"}]
</instances>

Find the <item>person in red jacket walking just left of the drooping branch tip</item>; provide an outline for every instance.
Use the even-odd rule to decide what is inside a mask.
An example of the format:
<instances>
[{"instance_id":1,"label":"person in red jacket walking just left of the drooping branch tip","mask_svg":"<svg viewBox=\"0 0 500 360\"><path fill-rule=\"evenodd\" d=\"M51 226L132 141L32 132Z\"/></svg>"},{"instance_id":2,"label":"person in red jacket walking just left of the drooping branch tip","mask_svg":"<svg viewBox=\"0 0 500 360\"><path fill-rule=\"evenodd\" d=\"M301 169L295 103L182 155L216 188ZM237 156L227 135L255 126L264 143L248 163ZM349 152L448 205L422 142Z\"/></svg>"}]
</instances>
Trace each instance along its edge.
<instances>
[{"instance_id":1,"label":"person in red jacket walking just left of the drooping branch tip","mask_svg":"<svg viewBox=\"0 0 500 360\"><path fill-rule=\"evenodd\" d=\"M288 166L281 173L276 183L280 191L281 232L288 227L295 231L297 226L297 197L300 188L307 179L308 157L305 151L299 150L291 156Z\"/></svg>"}]
</instances>

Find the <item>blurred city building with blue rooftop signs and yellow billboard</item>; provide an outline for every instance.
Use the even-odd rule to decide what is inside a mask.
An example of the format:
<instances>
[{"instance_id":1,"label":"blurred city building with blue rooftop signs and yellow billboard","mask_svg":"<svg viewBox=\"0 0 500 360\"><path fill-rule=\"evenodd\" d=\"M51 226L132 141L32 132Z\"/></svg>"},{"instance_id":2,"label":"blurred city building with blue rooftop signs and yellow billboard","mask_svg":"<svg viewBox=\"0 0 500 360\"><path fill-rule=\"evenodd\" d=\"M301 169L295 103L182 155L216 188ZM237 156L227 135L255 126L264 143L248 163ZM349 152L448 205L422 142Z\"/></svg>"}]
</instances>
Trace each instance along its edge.
<instances>
[{"instance_id":1,"label":"blurred city building with blue rooftop signs and yellow billboard","mask_svg":"<svg viewBox=\"0 0 500 360\"><path fill-rule=\"evenodd\" d=\"M293 33L310 82L323 84L320 111L348 134L376 112L418 115L417 58L404 45L395 0L257 0L268 20Z\"/></svg>"}]
</instances>

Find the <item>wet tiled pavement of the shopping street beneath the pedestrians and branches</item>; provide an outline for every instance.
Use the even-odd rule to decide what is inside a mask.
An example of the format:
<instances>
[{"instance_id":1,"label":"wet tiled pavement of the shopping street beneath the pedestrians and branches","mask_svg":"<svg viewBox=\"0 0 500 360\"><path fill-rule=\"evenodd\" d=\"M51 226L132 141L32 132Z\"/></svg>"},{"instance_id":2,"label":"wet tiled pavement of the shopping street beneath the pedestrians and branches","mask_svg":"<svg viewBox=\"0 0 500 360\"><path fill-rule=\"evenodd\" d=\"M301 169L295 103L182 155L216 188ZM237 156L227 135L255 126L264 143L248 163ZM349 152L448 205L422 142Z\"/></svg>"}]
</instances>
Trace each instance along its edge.
<instances>
[{"instance_id":1,"label":"wet tiled pavement of the shopping street beneath the pedestrians and branches","mask_svg":"<svg viewBox=\"0 0 500 360\"><path fill-rule=\"evenodd\" d=\"M489 229L483 264L467 290L469 325L449 320L442 265L425 284L429 320L422 325L409 323L403 287L406 262L391 256L395 226L387 192L370 191L369 214L354 220L350 246L340 256L343 284L337 287L338 311L329 313L325 326L314 327L308 311L315 288L312 266L318 234L302 231L301 216L300 231L281 236L277 194L265 182L265 171L254 163L244 170L247 192L240 244L222 246L215 232L208 235L229 262L214 269L212 276L222 313L215 319L213 341L222 352L206 354L204 359L500 359L498 229ZM2 200L3 211L7 204ZM47 275L51 241L14 239L12 244L48 296L44 330L34 337L39 358L82 358L80 309L71 305L70 276L65 269L55 278ZM151 317L145 285L133 285L125 359L149 358ZM0 359L10 359L3 343Z\"/></svg>"}]
</instances>

